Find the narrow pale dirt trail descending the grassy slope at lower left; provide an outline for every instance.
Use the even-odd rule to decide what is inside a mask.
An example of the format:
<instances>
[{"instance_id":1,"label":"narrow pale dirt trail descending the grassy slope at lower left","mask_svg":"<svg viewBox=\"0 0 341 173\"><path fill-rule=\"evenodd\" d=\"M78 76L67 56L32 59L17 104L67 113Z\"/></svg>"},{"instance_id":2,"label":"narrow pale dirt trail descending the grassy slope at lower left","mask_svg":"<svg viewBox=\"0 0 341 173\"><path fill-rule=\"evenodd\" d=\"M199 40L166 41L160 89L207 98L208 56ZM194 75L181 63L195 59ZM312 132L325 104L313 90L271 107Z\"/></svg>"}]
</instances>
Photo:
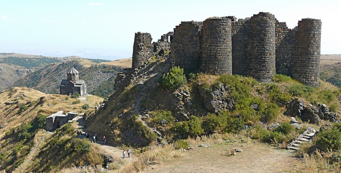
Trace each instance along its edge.
<instances>
[{"instance_id":1,"label":"narrow pale dirt trail descending the grassy slope at lower left","mask_svg":"<svg viewBox=\"0 0 341 173\"><path fill-rule=\"evenodd\" d=\"M13 172L25 172L27 170L27 167L31 164L33 158L38 155L39 149L43 146L44 141L47 137L49 137L52 133L37 133L37 136L35 136L34 139L34 145L33 148L31 149L30 153L28 156L25 158L25 161L20 164L20 166Z\"/></svg>"}]
</instances>

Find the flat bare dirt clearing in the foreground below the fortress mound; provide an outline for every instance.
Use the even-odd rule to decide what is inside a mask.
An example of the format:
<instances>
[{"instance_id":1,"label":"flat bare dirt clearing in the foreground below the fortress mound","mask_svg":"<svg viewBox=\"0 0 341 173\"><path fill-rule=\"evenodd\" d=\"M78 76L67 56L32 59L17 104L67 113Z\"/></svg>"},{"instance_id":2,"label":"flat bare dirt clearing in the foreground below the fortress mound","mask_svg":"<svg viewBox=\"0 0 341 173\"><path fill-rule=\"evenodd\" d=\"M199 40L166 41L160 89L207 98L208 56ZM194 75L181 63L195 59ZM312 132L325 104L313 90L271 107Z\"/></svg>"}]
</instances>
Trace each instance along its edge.
<instances>
[{"instance_id":1,"label":"flat bare dirt clearing in the foreground below the fortress mound","mask_svg":"<svg viewBox=\"0 0 341 173\"><path fill-rule=\"evenodd\" d=\"M182 156L161 165L150 165L144 172L238 172L266 173L287 172L293 170L296 159L290 150L276 149L260 143L244 143L237 145L210 144L213 147L195 147L194 150L181 152ZM243 146L241 146L243 145ZM242 149L236 156L221 156L229 148ZM152 169L153 168L153 169Z\"/></svg>"}]
</instances>

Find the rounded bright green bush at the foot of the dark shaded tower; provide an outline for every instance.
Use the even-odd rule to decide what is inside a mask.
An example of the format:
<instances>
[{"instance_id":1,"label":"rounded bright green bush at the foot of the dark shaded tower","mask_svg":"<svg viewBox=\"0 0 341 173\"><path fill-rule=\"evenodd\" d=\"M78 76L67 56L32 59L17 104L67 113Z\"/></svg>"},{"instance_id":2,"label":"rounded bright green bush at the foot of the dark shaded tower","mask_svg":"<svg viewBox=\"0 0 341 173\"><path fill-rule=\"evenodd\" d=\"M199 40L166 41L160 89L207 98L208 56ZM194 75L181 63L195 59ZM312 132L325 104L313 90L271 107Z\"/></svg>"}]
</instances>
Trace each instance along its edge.
<instances>
[{"instance_id":1,"label":"rounded bright green bush at the foot of the dark shaded tower","mask_svg":"<svg viewBox=\"0 0 341 173\"><path fill-rule=\"evenodd\" d=\"M183 69L173 67L167 74L163 75L162 84L167 88L179 88L186 83L186 78L183 75Z\"/></svg>"}]
</instances>

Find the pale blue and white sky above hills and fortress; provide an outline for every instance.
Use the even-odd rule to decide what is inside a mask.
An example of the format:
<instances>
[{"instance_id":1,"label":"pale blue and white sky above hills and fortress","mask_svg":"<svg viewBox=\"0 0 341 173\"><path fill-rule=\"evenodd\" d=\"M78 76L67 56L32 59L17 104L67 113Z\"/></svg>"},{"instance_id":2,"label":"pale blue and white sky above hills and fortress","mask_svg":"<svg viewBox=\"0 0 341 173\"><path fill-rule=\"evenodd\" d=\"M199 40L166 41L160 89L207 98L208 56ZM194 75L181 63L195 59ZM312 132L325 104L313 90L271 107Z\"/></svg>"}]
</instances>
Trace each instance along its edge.
<instances>
[{"instance_id":1,"label":"pale blue and white sky above hills and fortress","mask_svg":"<svg viewBox=\"0 0 341 173\"><path fill-rule=\"evenodd\" d=\"M341 0L1 0L0 53L130 58L135 32L157 41L181 21L259 12L288 28L321 19L321 54L341 54Z\"/></svg>"}]
</instances>

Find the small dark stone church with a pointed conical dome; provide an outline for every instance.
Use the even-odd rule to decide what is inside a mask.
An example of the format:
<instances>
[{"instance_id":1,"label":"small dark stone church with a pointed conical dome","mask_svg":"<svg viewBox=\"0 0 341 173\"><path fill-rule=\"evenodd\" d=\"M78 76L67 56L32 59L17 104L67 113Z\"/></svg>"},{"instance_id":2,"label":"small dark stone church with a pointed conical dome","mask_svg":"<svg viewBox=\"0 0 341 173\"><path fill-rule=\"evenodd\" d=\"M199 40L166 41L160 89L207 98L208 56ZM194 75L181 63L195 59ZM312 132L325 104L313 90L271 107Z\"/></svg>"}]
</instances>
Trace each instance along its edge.
<instances>
[{"instance_id":1,"label":"small dark stone church with a pointed conical dome","mask_svg":"<svg viewBox=\"0 0 341 173\"><path fill-rule=\"evenodd\" d=\"M72 67L67 75L68 79L63 79L62 82L60 82L60 94L69 96L76 93L78 93L80 96L87 95L85 81L79 80L78 71Z\"/></svg>"}]
</instances>

